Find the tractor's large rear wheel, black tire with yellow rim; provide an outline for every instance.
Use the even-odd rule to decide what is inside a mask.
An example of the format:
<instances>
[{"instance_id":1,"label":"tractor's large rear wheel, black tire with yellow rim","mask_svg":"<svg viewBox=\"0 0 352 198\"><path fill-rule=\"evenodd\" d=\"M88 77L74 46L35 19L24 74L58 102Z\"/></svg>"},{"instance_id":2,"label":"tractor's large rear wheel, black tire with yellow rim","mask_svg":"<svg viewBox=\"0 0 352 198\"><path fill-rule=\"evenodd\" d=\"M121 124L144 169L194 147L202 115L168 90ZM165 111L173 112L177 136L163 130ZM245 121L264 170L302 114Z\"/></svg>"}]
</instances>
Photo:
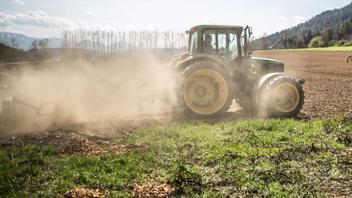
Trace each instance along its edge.
<instances>
[{"instance_id":1,"label":"tractor's large rear wheel, black tire with yellow rim","mask_svg":"<svg viewBox=\"0 0 352 198\"><path fill-rule=\"evenodd\" d=\"M232 104L234 85L225 68L210 61L186 67L177 82L177 105L188 117L221 117Z\"/></svg>"}]
</instances>

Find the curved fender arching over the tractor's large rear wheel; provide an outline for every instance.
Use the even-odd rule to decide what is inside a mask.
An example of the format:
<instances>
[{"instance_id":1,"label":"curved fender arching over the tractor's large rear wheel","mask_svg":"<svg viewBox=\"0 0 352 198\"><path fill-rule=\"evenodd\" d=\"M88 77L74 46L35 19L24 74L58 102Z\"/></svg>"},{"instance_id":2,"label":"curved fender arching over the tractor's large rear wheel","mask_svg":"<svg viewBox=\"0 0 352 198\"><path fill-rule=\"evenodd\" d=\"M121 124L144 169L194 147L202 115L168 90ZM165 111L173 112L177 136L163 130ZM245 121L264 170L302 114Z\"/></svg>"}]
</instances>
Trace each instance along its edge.
<instances>
[{"instance_id":1,"label":"curved fender arching over the tractor's large rear wheel","mask_svg":"<svg viewBox=\"0 0 352 198\"><path fill-rule=\"evenodd\" d=\"M227 72L229 70L227 69L224 61L217 55L214 54L190 54L186 58L184 58L181 61L178 61L175 64L174 71L182 71L184 68L189 66L192 63L198 62L198 61L211 61L218 63L221 67L225 68Z\"/></svg>"}]
</instances>

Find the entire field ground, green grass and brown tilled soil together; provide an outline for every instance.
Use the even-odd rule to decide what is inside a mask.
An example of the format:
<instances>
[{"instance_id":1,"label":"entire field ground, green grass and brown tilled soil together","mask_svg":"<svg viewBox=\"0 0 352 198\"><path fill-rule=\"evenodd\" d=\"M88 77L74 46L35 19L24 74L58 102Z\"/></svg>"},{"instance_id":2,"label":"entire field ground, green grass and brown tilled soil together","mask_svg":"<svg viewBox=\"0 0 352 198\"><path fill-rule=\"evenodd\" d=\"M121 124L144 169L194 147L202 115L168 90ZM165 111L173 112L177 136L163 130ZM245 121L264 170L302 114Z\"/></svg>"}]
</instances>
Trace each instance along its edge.
<instances>
[{"instance_id":1,"label":"entire field ground, green grass and brown tilled soil together","mask_svg":"<svg viewBox=\"0 0 352 198\"><path fill-rule=\"evenodd\" d=\"M222 119L141 113L1 135L0 197L350 197L348 55L253 52L306 80L295 118L251 118L234 103Z\"/></svg>"}]
</instances>

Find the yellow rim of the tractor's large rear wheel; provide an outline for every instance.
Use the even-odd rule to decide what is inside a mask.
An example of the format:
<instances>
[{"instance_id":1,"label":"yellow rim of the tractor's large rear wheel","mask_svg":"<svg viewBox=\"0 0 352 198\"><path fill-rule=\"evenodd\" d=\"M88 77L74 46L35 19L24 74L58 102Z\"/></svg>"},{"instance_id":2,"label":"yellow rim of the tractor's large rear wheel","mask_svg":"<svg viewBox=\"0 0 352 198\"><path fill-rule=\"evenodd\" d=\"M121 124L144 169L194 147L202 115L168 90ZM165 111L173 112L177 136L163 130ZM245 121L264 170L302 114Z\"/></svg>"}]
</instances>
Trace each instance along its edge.
<instances>
[{"instance_id":1,"label":"yellow rim of the tractor's large rear wheel","mask_svg":"<svg viewBox=\"0 0 352 198\"><path fill-rule=\"evenodd\" d=\"M194 72L183 86L183 97L187 106L201 115L219 111L224 106L227 95L225 79L211 69Z\"/></svg>"}]
</instances>

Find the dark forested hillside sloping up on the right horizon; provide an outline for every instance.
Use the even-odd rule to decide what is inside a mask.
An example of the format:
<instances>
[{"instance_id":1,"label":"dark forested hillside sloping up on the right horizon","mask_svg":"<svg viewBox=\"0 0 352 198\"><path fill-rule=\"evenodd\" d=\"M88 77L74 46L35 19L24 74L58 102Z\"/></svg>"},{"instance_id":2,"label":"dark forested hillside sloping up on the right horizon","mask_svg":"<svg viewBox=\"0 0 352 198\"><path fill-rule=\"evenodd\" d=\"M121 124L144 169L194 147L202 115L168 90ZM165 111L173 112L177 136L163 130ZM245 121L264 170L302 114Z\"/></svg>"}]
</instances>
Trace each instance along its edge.
<instances>
[{"instance_id":1,"label":"dark forested hillside sloping up on the right horizon","mask_svg":"<svg viewBox=\"0 0 352 198\"><path fill-rule=\"evenodd\" d=\"M325 36L329 27L333 29L333 35L326 45L338 43L340 39L351 39L352 35L352 3L339 9L324 11L304 23L291 27L281 32L276 32L267 37L256 39L252 42L253 49L273 48L302 48L308 47L310 40L315 36ZM351 23L348 23L351 21ZM351 27L344 27L344 25ZM341 27L340 27L341 26ZM349 32L348 29L351 29ZM331 31L331 30L330 30ZM329 32L330 34L332 32ZM299 38L302 36L301 38ZM327 35L326 35L327 36ZM286 39L286 47L282 40ZM302 42L303 38L303 43ZM297 46L297 40L298 45ZM326 39L327 40L327 39ZM331 42L333 41L333 42ZM330 43L329 43L330 42Z\"/></svg>"}]
</instances>

